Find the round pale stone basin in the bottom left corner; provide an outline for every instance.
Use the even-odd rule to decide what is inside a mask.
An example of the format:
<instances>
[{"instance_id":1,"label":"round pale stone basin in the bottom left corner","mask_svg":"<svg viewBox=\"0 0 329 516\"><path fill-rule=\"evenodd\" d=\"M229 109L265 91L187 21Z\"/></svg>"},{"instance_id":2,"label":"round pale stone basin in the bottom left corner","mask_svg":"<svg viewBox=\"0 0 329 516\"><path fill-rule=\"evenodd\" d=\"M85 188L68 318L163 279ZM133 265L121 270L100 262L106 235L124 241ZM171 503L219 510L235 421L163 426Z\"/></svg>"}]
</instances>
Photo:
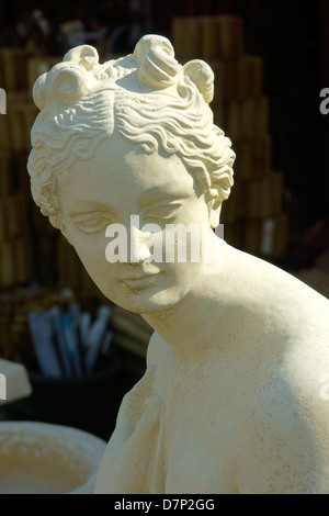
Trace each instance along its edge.
<instances>
[{"instance_id":1,"label":"round pale stone basin in the bottom left corner","mask_svg":"<svg viewBox=\"0 0 329 516\"><path fill-rule=\"evenodd\" d=\"M0 423L0 494L90 494L106 442L77 428Z\"/></svg>"}]
</instances>

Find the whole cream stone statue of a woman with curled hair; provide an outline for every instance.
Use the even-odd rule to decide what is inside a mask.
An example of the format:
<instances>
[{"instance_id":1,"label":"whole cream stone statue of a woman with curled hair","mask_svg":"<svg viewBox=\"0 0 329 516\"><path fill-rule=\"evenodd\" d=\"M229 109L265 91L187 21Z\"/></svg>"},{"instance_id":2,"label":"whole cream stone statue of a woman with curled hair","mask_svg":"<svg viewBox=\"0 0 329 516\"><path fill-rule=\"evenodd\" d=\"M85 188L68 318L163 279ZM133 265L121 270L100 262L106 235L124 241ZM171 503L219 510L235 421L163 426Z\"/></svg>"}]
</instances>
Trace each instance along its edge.
<instances>
[{"instance_id":1,"label":"whole cream stone statue of a woman with curled hair","mask_svg":"<svg viewBox=\"0 0 329 516\"><path fill-rule=\"evenodd\" d=\"M34 87L33 198L100 290L155 329L95 493L329 492L329 302L215 235L235 154L213 82L148 35L103 65L73 48ZM202 228L185 260L179 224Z\"/></svg>"}]
</instances>

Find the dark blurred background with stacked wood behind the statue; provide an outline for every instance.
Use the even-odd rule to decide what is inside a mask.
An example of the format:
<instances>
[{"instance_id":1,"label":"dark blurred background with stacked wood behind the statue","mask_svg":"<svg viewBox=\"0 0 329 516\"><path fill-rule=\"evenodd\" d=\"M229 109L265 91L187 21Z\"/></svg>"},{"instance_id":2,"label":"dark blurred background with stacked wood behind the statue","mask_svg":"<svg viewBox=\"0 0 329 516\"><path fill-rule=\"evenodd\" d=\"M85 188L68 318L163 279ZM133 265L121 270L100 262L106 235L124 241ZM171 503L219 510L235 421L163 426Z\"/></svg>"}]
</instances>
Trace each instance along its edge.
<instances>
[{"instance_id":1,"label":"dark blurred background with stacked wood behind the statue","mask_svg":"<svg viewBox=\"0 0 329 516\"><path fill-rule=\"evenodd\" d=\"M36 78L72 46L94 45L103 61L148 33L169 37L180 63L202 58L215 72L215 123L237 154L225 239L329 296L329 115L320 112L328 1L2 0L0 358L25 364L33 394L0 407L0 418L109 438L122 396L145 370L151 328L102 296L39 214L26 160Z\"/></svg>"}]
</instances>

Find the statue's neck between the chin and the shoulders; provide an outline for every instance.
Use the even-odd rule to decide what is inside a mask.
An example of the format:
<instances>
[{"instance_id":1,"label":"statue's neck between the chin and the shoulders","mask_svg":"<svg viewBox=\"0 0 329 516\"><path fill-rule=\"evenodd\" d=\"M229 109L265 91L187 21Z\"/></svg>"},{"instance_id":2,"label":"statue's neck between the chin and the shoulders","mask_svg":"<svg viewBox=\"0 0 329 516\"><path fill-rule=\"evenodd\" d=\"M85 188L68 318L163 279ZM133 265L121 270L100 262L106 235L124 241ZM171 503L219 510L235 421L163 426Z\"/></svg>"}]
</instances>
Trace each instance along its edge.
<instances>
[{"instance_id":1,"label":"statue's neck between the chin and the shoulders","mask_svg":"<svg viewBox=\"0 0 329 516\"><path fill-rule=\"evenodd\" d=\"M236 280L231 274L230 250L224 243L223 270L201 274L193 288L174 306L143 314L147 323L171 346L178 360L200 361L225 354L236 326ZM239 318L241 313L239 313Z\"/></svg>"}]
</instances>

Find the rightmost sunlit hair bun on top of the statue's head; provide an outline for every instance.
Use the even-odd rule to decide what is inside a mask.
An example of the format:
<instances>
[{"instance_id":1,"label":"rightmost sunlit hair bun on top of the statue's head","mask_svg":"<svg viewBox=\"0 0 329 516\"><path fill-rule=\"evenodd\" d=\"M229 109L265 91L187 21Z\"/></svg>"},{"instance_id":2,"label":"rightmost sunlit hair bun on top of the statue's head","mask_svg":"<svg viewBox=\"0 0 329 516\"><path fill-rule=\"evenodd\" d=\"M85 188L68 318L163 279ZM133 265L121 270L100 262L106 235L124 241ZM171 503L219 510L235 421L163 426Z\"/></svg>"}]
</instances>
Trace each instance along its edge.
<instances>
[{"instance_id":1,"label":"rightmost sunlit hair bun on top of the statue's head","mask_svg":"<svg viewBox=\"0 0 329 516\"><path fill-rule=\"evenodd\" d=\"M209 104L214 99L214 72L201 59L193 59L183 66L183 74L188 82L193 82L202 93L204 101Z\"/></svg>"}]
</instances>

